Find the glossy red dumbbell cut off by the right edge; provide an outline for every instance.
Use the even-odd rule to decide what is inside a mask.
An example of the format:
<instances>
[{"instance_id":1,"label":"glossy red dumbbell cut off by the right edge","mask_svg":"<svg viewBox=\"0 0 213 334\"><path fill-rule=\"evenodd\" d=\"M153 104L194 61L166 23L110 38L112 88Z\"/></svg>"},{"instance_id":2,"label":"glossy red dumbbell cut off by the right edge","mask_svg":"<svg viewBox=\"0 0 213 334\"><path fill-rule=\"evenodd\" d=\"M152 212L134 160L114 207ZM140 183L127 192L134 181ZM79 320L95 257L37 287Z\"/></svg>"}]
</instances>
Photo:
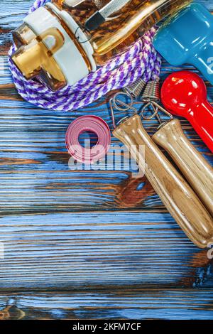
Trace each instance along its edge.
<instances>
[{"instance_id":1,"label":"glossy red dumbbell cut off by the right edge","mask_svg":"<svg viewBox=\"0 0 213 334\"><path fill-rule=\"evenodd\" d=\"M185 117L213 152L213 108L199 75L188 71L169 75L161 88L161 101L171 114Z\"/></svg>"}]
</instances>

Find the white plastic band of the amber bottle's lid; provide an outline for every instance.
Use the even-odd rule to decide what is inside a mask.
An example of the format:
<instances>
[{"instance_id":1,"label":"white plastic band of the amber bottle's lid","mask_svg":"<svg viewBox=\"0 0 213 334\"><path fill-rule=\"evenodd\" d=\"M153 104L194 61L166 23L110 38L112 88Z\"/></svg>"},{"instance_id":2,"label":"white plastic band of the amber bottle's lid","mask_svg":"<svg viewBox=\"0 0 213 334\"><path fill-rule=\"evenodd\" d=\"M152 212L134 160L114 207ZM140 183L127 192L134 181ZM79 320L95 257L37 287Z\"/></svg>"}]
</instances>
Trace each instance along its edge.
<instances>
[{"instance_id":1,"label":"white plastic band of the amber bottle's lid","mask_svg":"<svg viewBox=\"0 0 213 334\"><path fill-rule=\"evenodd\" d=\"M40 7L36 11L33 11L33 13L26 16L24 22L33 30L37 36L43 34L49 28L58 28L60 33L62 33L65 42L62 45L62 48L54 53L53 58L58 63L60 69L65 75L67 84L72 86L83 77L86 77L89 74L89 70L84 58L82 57L82 54L80 53L80 50L62 27L60 19L57 18L57 15L60 16L63 21L65 21L76 38L79 38L79 41L86 41L85 43L81 44L81 48L84 49L89 63L91 64L92 71L94 71L97 67L94 62L94 58L92 57L92 45L89 43L89 41L87 41L87 36L85 36L82 29L77 25L70 14L68 14L66 11L60 11L53 4L48 4L47 6L55 12L55 15L51 14L51 11L49 11L47 8ZM47 48L51 49L55 43L54 37L51 38L50 36L45 38L43 43L45 43Z\"/></svg>"}]
</instances>

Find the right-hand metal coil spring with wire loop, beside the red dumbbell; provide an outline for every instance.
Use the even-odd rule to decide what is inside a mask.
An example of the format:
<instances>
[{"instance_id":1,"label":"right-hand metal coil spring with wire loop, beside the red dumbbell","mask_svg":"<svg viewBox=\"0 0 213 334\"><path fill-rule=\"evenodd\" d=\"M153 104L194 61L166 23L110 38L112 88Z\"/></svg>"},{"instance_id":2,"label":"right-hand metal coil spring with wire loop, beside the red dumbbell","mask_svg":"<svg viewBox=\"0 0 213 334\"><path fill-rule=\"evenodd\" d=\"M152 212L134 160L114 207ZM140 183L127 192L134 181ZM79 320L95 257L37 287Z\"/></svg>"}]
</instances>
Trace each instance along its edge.
<instances>
[{"instance_id":1,"label":"right-hand metal coil spring with wire loop, beside the red dumbbell","mask_svg":"<svg viewBox=\"0 0 213 334\"><path fill-rule=\"evenodd\" d=\"M146 88L141 97L141 101L146 102L143 109L141 110L141 116L143 117L143 119L150 120L156 117L161 126L162 124L164 124L164 122L162 121L162 119L160 119L160 115L158 113L159 111L166 114L168 117L170 117L170 119L173 119L172 114L170 114L167 110L161 107L160 104L158 103L160 102L160 82L158 80L149 81L147 83ZM153 114L151 114L151 116L146 116L145 113L147 112L147 109L149 107L153 109Z\"/></svg>"}]
</instances>

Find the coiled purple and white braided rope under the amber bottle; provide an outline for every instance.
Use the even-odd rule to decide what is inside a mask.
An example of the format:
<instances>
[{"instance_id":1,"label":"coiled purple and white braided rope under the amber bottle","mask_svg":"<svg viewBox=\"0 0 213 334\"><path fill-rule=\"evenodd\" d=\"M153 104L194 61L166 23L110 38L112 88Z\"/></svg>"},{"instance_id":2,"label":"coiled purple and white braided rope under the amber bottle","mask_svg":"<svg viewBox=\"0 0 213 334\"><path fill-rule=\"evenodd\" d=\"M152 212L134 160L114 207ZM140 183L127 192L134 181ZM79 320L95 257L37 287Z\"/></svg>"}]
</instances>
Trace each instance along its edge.
<instances>
[{"instance_id":1,"label":"coiled purple and white braided rope under the amber bottle","mask_svg":"<svg viewBox=\"0 0 213 334\"><path fill-rule=\"evenodd\" d=\"M29 13L43 6L49 0L35 0ZM91 72L74 86L66 86L58 92L52 92L38 80L26 80L11 61L16 50L9 50L9 68L18 93L26 101L38 107L50 110L71 111L80 109L96 101L111 90L126 87L142 77L145 82L160 76L161 58L153 48L153 36L156 28L151 28L143 38L137 41L126 53L116 56L109 63Z\"/></svg>"}]
</instances>

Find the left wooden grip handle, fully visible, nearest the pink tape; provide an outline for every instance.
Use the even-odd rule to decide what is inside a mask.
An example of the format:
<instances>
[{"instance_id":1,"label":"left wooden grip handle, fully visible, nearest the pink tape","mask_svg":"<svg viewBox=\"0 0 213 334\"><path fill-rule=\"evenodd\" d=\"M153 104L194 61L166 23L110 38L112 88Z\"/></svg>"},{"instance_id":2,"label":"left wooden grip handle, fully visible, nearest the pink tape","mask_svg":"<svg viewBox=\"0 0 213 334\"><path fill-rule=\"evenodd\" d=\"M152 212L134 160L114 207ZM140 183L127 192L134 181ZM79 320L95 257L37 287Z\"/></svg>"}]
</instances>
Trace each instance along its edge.
<instances>
[{"instance_id":1,"label":"left wooden grip handle, fully visible, nearest the pink tape","mask_svg":"<svg viewBox=\"0 0 213 334\"><path fill-rule=\"evenodd\" d=\"M207 247L213 240L212 217L190 185L148 136L141 117L134 115L127 119L114 130L113 134L129 149L187 237L198 247ZM140 146L145 146L145 156ZM143 163L144 158L145 163Z\"/></svg>"}]
</instances>

